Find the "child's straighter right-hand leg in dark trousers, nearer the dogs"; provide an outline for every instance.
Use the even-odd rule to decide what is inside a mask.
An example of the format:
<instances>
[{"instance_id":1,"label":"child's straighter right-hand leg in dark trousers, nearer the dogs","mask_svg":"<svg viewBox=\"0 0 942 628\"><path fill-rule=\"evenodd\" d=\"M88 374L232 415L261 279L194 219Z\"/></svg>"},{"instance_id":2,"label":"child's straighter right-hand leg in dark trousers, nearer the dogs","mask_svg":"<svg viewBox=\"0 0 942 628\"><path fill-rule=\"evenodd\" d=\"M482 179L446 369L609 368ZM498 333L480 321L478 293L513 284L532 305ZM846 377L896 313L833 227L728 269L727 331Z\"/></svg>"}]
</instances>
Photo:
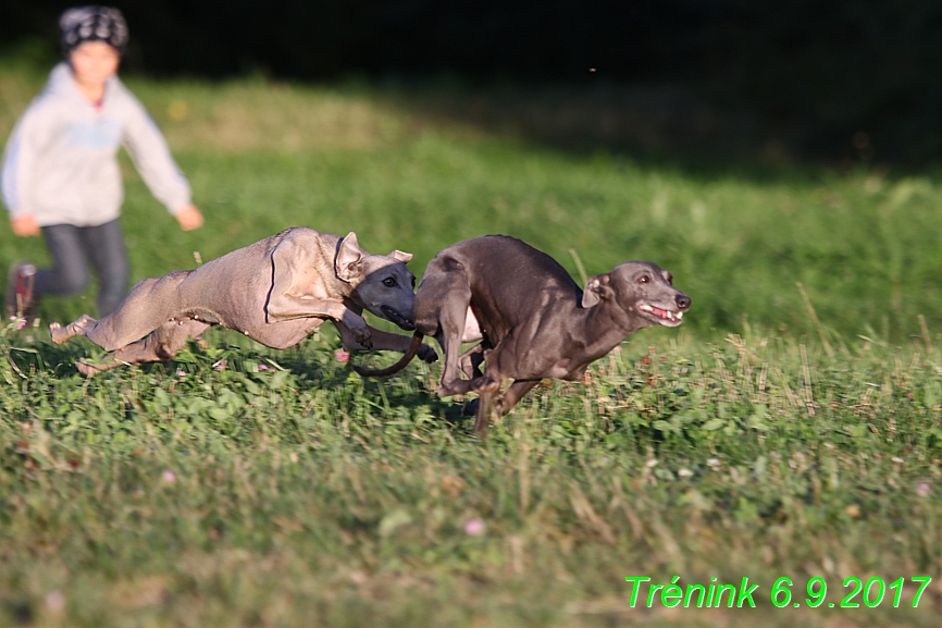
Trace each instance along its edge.
<instances>
[{"instance_id":1,"label":"child's straighter right-hand leg in dark trousers, nearer the dogs","mask_svg":"<svg viewBox=\"0 0 942 628\"><path fill-rule=\"evenodd\" d=\"M131 269L121 224L116 220L80 231L82 244L91 259L101 284L98 291L98 316L103 317L117 307L127 294Z\"/></svg>"}]
</instances>

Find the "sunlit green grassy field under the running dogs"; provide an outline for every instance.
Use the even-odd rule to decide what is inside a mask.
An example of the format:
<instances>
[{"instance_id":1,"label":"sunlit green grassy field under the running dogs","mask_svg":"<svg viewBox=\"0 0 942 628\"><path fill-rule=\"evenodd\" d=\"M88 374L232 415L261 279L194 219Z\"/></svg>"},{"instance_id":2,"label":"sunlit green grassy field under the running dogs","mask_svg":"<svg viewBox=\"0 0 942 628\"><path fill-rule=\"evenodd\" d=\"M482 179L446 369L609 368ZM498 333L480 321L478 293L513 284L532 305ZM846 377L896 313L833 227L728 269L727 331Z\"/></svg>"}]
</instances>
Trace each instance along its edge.
<instances>
[{"instance_id":1,"label":"sunlit green grassy field under the running dogs","mask_svg":"<svg viewBox=\"0 0 942 628\"><path fill-rule=\"evenodd\" d=\"M0 69L4 137L41 83ZM577 278L656 261L693 307L480 442L434 395L437 365L363 382L327 330L288 352L213 331L85 380L74 361L100 352L45 329L94 293L45 301L39 327L0 332L0 624L938 625L937 177L565 150L538 120L483 124L401 87L129 85L207 216L182 233L126 162L135 279L296 224L409 250L417 274L508 233ZM9 230L0 244L4 264L46 259ZM748 578L757 607L648 608L646 589L632 607L635 576ZM828 607L845 598L859 607Z\"/></svg>"}]
</instances>

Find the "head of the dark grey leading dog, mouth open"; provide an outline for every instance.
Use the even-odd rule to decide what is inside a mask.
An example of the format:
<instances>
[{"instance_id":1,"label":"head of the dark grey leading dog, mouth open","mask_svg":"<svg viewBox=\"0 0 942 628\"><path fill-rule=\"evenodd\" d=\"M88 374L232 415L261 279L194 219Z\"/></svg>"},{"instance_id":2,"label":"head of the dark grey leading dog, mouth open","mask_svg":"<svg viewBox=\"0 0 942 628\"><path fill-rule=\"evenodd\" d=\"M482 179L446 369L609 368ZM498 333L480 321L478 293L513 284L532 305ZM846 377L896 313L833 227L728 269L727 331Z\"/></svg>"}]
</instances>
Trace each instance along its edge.
<instances>
[{"instance_id":1,"label":"head of the dark grey leading dog, mouth open","mask_svg":"<svg viewBox=\"0 0 942 628\"><path fill-rule=\"evenodd\" d=\"M690 297L673 287L673 278L657 264L627 261L611 272L588 279L582 293L582 307L603 300L617 303L630 315L637 315L642 327L662 324L675 328L690 309Z\"/></svg>"}]
</instances>

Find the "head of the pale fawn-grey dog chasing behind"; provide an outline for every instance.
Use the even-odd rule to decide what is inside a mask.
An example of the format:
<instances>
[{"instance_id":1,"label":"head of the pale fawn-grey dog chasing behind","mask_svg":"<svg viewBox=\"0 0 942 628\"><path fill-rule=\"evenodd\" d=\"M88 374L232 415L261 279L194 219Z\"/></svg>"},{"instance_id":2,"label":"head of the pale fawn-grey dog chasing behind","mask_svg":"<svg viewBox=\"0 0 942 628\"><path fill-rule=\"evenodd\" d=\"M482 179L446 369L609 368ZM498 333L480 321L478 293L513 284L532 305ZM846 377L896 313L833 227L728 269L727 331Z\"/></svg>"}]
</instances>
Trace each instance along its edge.
<instances>
[{"instance_id":1,"label":"head of the pale fawn-grey dog chasing behind","mask_svg":"<svg viewBox=\"0 0 942 628\"><path fill-rule=\"evenodd\" d=\"M350 232L340 243L335 260L337 276L352 287L351 297L377 317L393 321L407 331L416 329L412 306L416 303L416 275L406 263L412 255L394 250L389 255L370 255Z\"/></svg>"}]
</instances>

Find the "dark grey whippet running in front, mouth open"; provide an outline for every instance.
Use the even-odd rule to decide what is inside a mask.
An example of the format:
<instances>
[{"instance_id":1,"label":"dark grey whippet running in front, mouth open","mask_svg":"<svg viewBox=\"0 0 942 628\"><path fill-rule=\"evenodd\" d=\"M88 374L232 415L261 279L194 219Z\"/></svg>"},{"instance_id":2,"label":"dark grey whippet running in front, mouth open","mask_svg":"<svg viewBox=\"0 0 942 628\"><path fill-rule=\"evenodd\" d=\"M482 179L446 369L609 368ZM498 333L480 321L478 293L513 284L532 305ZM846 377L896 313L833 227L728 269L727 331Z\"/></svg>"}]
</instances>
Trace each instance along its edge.
<instances>
[{"instance_id":1,"label":"dark grey whippet running in front, mouth open","mask_svg":"<svg viewBox=\"0 0 942 628\"><path fill-rule=\"evenodd\" d=\"M479 393L466 410L485 435L492 410L510 411L540 380L580 380L592 361L639 329L681 324L690 297L671 284L658 266L629 261L590 278L583 292L556 260L517 238L459 242L422 274L406 355L386 369L354 368L365 377L393 374L412 359L423 336L434 336L445 353L438 395ZM461 343L478 340L459 356ZM513 382L500 395L505 379Z\"/></svg>"}]
</instances>

